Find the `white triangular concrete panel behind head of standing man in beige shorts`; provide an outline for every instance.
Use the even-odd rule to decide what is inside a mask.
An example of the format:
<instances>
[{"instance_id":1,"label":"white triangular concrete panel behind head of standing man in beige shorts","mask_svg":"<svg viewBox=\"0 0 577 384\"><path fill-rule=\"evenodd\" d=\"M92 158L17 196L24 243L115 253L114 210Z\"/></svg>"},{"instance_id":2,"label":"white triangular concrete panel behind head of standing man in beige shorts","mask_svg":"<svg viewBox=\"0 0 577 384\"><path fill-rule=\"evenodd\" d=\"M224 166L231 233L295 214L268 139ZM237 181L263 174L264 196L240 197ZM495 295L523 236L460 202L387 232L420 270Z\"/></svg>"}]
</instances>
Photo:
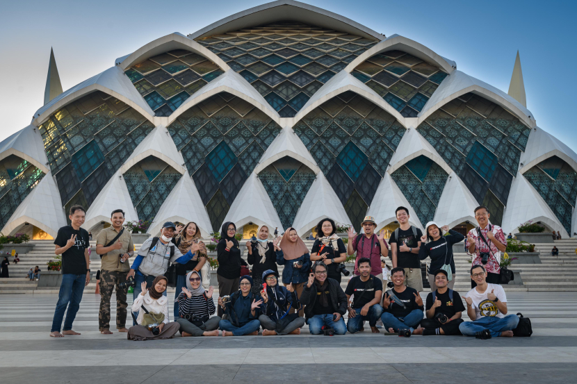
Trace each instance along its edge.
<instances>
[{"instance_id":1,"label":"white triangular concrete panel behind head of standing man in beige shorts","mask_svg":"<svg viewBox=\"0 0 577 384\"><path fill-rule=\"evenodd\" d=\"M423 225L421 220L418 219L415 210L409 204L403 192L400 192L391 175L385 173L379 187L377 187L371 206L368 207L367 215L375 217L377 230L380 230L387 224L396 221L395 210L401 206L409 208L409 223L423 230Z\"/></svg>"}]
</instances>

